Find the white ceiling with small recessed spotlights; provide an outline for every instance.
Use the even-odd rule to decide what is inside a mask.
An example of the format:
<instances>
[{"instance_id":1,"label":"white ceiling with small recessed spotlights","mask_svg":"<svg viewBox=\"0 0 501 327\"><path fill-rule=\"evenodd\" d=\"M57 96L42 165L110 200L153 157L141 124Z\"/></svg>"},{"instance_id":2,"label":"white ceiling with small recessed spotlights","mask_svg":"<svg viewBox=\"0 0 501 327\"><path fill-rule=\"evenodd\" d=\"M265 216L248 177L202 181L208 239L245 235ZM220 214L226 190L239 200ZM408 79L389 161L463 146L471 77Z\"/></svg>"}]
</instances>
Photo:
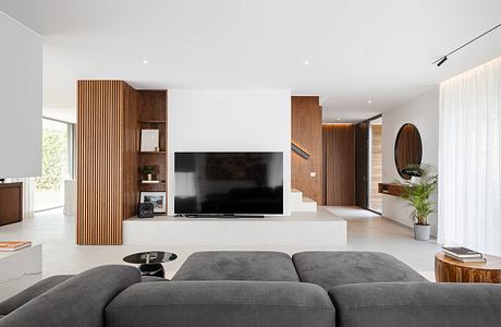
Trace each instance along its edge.
<instances>
[{"instance_id":1,"label":"white ceiling with small recessed spotlights","mask_svg":"<svg viewBox=\"0 0 501 327\"><path fill-rule=\"evenodd\" d=\"M355 121L501 56L499 28L431 65L501 23L500 0L0 0L0 11L44 35L50 108L75 106L78 78L121 78L291 88L321 96L325 121Z\"/></svg>"}]
</instances>

